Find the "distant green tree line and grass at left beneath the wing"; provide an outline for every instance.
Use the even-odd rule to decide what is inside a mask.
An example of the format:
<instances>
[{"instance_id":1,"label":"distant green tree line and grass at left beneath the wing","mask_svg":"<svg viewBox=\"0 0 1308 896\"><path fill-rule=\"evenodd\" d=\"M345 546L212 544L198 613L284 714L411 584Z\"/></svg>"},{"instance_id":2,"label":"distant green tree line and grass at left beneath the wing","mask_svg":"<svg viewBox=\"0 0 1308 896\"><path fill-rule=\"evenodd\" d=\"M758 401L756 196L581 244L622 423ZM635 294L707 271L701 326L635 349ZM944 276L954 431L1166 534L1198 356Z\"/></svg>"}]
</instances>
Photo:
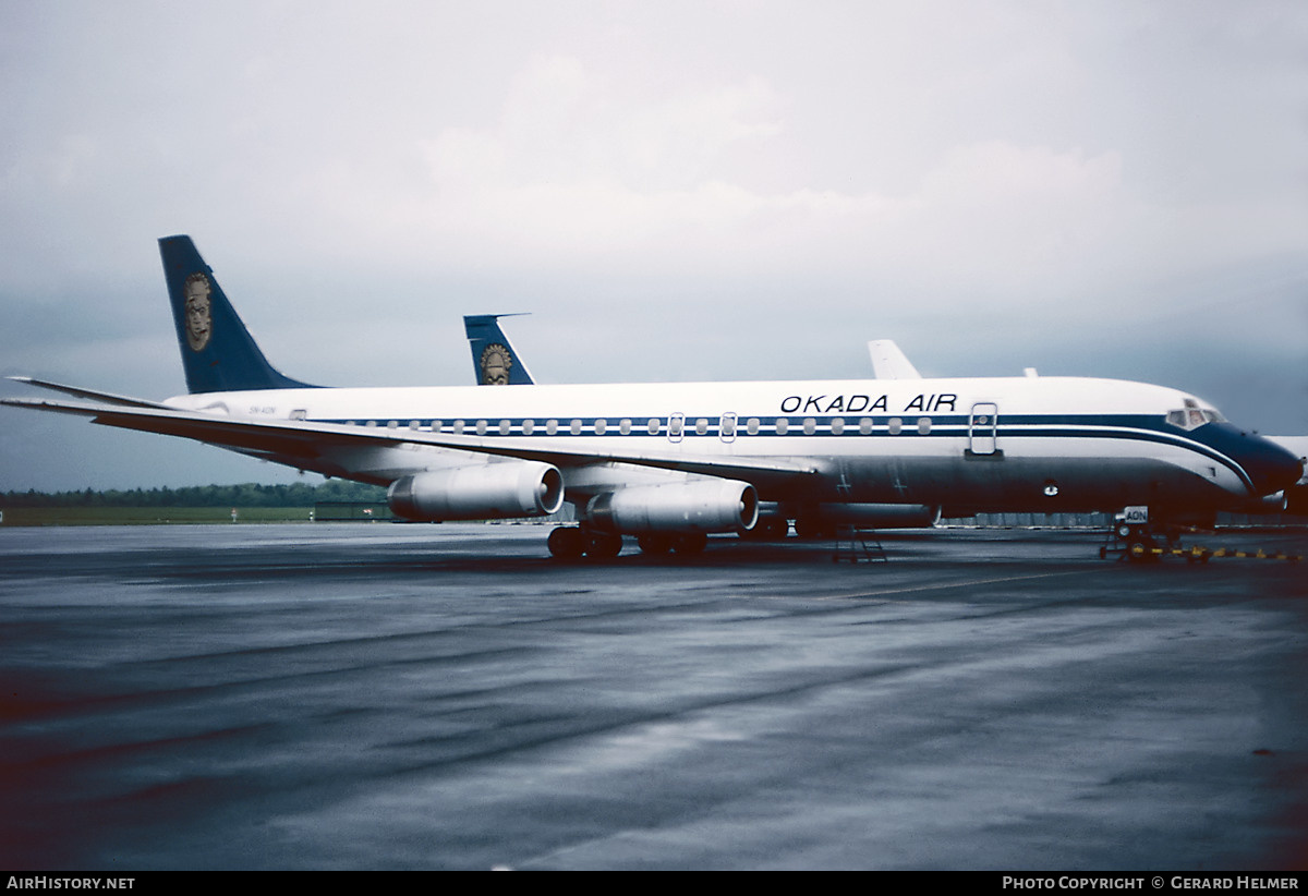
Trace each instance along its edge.
<instances>
[{"instance_id":1,"label":"distant green tree line and grass at left beneath the wing","mask_svg":"<svg viewBox=\"0 0 1308 896\"><path fill-rule=\"evenodd\" d=\"M369 501L385 504L386 489L341 479L320 485L188 485L184 488L133 488L97 492L46 493L37 491L0 493L0 508L311 508L320 501Z\"/></svg>"}]
</instances>

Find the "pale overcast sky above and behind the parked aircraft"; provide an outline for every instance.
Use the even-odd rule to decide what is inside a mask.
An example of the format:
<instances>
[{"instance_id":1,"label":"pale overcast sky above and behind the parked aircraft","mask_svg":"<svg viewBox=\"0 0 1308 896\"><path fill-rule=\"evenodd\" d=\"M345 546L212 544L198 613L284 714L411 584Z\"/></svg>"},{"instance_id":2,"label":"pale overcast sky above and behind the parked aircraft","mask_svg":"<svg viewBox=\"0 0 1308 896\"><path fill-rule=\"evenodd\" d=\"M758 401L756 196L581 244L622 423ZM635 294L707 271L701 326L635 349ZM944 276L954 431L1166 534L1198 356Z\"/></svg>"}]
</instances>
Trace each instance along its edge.
<instances>
[{"instance_id":1,"label":"pale overcast sky above and behind the parked aircraft","mask_svg":"<svg viewBox=\"0 0 1308 896\"><path fill-rule=\"evenodd\" d=\"M1305 48L1299 0L0 0L0 373L184 391L188 233L323 385L470 383L460 317L530 311L545 382L863 377L895 339L1308 433ZM13 408L0 460L294 476Z\"/></svg>"}]
</instances>

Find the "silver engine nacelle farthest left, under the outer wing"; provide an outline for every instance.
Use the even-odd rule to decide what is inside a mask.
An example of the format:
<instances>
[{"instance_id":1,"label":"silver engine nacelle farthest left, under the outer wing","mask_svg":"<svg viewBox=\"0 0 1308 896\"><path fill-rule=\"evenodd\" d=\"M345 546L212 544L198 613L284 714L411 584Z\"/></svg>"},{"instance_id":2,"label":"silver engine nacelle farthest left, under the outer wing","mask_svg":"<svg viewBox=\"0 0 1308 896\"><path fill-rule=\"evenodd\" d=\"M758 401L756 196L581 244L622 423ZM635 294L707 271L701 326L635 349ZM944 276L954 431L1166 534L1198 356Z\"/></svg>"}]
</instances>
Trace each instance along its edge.
<instances>
[{"instance_id":1,"label":"silver engine nacelle farthest left, under the outer wing","mask_svg":"<svg viewBox=\"0 0 1308 896\"><path fill-rule=\"evenodd\" d=\"M564 502L564 477L536 460L433 470L391 483L386 501L415 522L547 517Z\"/></svg>"}]
</instances>

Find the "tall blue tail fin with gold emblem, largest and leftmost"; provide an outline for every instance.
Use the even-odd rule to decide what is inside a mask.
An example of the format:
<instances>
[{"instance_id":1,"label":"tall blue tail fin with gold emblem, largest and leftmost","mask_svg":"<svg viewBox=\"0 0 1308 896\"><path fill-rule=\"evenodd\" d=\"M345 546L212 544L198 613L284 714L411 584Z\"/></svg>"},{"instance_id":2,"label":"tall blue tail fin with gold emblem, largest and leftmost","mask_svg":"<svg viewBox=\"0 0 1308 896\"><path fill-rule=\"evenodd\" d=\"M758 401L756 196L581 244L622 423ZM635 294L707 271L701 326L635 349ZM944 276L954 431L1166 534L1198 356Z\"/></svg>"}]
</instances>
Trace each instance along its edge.
<instances>
[{"instance_id":1,"label":"tall blue tail fin with gold emblem, largest and leftmost","mask_svg":"<svg viewBox=\"0 0 1308 896\"><path fill-rule=\"evenodd\" d=\"M190 237L164 237L160 255L192 394L311 388L268 364Z\"/></svg>"}]
</instances>

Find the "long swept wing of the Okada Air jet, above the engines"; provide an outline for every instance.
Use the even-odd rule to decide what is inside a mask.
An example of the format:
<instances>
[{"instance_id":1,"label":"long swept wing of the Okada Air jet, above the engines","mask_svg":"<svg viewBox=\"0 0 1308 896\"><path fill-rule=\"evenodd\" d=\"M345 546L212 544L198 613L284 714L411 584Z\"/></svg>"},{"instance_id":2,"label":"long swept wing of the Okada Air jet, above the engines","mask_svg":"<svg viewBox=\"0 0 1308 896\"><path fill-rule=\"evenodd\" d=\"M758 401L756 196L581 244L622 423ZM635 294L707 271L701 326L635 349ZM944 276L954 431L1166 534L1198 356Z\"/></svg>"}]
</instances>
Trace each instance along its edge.
<instances>
[{"instance_id":1,"label":"long swept wing of the Okada Air jet, above the engines","mask_svg":"<svg viewBox=\"0 0 1308 896\"><path fill-rule=\"evenodd\" d=\"M132 407L48 399L0 399L0 404L89 417L92 422L119 429L190 438L335 476L343 476L344 471L335 468L331 460L334 450L402 445L430 445L473 454L540 460L559 467L630 463L743 479L757 485L782 485L818 474L811 464L777 459L687 457L674 451L594 451L560 446L556 439L551 439L549 447L542 447L539 441L528 437L484 437L415 429L347 426L311 420L249 420L179 411L165 405Z\"/></svg>"}]
</instances>

